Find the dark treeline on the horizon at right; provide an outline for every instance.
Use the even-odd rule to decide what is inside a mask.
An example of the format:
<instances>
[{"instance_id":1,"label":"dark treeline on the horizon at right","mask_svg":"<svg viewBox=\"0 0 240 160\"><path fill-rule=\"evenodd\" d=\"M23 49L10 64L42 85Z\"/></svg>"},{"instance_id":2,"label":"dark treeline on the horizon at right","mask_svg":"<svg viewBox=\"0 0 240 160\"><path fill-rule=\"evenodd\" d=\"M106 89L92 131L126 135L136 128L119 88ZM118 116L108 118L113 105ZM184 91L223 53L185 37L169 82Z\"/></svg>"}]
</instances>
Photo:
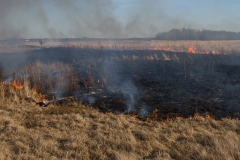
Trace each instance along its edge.
<instances>
[{"instance_id":1,"label":"dark treeline on the horizon at right","mask_svg":"<svg viewBox=\"0 0 240 160\"><path fill-rule=\"evenodd\" d=\"M158 33L155 38L158 40L240 40L240 32L182 28Z\"/></svg>"}]
</instances>

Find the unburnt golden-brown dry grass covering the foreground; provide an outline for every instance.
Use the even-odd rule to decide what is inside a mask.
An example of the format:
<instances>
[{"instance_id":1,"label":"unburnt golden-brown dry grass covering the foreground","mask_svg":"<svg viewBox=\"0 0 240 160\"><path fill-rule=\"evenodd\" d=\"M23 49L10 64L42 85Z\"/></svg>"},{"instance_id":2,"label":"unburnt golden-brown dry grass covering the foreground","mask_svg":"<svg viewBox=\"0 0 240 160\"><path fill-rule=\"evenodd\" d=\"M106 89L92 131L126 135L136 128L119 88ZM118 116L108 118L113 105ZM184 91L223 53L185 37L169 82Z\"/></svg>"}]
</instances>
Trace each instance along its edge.
<instances>
[{"instance_id":1,"label":"unburnt golden-brown dry grass covering the foreground","mask_svg":"<svg viewBox=\"0 0 240 160\"><path fill-rule=\"evenodd\" d=\"M236 119L149 123L76 102L39 107L38 95L28 88L0 90L0 159L240 158Z\"/></svg>"}]
</instances>

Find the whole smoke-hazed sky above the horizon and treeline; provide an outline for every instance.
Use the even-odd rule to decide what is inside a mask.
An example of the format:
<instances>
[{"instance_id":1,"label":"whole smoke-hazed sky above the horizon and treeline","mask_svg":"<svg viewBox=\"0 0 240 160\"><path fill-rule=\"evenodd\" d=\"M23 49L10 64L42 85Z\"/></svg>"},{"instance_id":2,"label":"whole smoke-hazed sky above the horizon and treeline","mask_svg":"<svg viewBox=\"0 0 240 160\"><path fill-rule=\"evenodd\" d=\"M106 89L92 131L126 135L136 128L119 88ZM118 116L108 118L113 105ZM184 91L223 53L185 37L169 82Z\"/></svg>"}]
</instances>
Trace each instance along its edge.
<instances>
[{"instance_id":1,"label":"whole smoke-hazed sky above the horizon and treeline","mask_svg":"<svg viewBox=\"0 0 240 160\"><path fill-rule=\"evenodd\" d=\"M0 0L0 39L144 38L173 28L240 32L239 0Z\"/></svg>"}]
</instances>

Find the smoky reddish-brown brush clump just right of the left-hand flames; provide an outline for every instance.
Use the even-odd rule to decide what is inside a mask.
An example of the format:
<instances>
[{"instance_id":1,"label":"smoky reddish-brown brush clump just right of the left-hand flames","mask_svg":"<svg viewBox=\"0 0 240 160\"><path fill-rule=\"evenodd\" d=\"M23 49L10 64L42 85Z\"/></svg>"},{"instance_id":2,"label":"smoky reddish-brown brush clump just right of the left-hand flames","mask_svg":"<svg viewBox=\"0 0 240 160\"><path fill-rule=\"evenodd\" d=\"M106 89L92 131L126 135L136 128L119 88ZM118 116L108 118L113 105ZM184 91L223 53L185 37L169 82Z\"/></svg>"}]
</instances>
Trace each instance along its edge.
<instances>
[{"instance_id":1,"label":"smoky reddish-brown brush clump just right of the left-hand flames","mask_svg":"<svg viewBox=\"0 0 240 160\"><path fill-rule=\"evenodd\" d=\"M29 75L30 88L36 89L39 93L64 94L78 88L78 77L74 74L73 68L62 62L51 64L36 62L25 67L25 70Z\"/></svg>"}]
</instances>

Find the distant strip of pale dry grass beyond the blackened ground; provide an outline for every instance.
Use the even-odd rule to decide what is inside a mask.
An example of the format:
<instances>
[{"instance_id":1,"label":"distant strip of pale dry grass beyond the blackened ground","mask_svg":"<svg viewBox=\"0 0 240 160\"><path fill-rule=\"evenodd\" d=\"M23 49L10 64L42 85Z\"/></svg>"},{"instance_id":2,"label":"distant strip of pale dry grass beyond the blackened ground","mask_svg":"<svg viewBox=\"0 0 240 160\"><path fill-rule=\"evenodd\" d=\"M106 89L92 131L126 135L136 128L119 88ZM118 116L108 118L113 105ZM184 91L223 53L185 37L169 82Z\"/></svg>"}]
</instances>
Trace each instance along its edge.
<instances>
[{"instance_id":1,"label":"distant strip of pale dry grass beyond the blackened ground","mask_svg":"<svg viewBox=\"0 0 240 160\"><path fill-rule=\"evenodd\" d=\"M43 47L78 47L78 48L101 48L101 49L139 49L139 50L167 50L176 52L189 52L189 48L194 49L194 53L221 53L232 54L240 52L240 41L169 41L169 40L43 40ZM41 48L38 40L20 40L16 42L0 42L0 52L27 51Z\"/></svg>"}]
</instances>

